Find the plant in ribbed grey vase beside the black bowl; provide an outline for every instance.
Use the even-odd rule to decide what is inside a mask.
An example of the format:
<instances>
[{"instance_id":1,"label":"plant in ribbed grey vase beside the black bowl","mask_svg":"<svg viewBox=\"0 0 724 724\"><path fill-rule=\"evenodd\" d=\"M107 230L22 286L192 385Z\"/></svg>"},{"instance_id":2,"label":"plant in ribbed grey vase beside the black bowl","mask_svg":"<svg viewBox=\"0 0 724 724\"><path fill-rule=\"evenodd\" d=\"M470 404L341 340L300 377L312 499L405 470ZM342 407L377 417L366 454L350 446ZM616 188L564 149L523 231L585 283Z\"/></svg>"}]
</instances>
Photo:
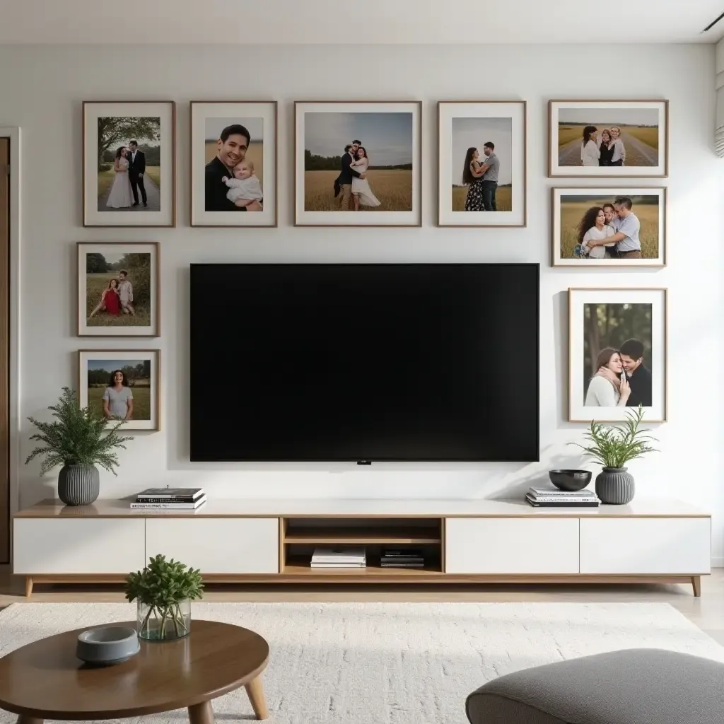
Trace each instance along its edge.
<instances>
[{"instance_id":1,"label":"plant in ribbed grey vase beside the black bowl","mask_svg":"<svg viewBox=\"0 0 724 724\"><path fill-rule=\"evenodd\" d=\"M626 410L626 421L623 426L603 426L593 421L591 429L585 436L592 445L571 445L581 447L586 455L590 455L603 466L596 477L596 494L601 502L613 505L625 505L633 500L633 475L628 472L626 463L629 460L643 457L647 452L657 452L650 442L658 442L655 437L647 434L647 430L639 429L644 418L644 408L639 405L636 411Z\"/></svg>"}]
</instances>

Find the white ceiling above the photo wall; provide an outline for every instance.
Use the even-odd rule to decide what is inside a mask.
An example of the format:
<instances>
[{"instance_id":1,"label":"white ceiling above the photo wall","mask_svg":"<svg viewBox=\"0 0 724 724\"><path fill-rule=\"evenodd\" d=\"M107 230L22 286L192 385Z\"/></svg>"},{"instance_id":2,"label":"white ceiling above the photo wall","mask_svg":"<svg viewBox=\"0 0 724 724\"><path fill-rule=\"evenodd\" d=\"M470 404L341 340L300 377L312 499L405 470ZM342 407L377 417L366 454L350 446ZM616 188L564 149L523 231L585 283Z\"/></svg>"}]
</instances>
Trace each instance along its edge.
<instances>
[{"instance_id":1,"label":"white ceiling above the photo wall","mask_svg":"<svg viewBox=\"0 0 724 724\"><path fill-rule=\"evenodd\" d=\"M700 31L723 11L724 0L0 0L0 43L713 43L724 20Z\"/></svg>"}]
</instances>

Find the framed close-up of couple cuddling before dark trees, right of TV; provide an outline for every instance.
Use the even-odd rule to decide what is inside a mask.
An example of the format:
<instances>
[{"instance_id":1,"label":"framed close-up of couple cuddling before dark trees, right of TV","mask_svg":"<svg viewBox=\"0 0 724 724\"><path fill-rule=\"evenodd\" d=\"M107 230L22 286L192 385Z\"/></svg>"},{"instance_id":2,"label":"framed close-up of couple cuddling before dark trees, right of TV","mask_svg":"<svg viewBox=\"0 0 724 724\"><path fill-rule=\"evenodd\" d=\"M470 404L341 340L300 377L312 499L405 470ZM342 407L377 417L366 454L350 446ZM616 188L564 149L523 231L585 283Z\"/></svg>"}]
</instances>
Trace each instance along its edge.
<instances>
[{"instance_id":1,"label":"framed close-up of couple cuddling before dark trees, right of TV","mask_svg":"<svg viewBox=\"0 0 724 724\"><path fill-rule=\"evenodd\" d=\"M666 420L667 291L568 290L568 419Z\"/></svg>"}]
</instances>

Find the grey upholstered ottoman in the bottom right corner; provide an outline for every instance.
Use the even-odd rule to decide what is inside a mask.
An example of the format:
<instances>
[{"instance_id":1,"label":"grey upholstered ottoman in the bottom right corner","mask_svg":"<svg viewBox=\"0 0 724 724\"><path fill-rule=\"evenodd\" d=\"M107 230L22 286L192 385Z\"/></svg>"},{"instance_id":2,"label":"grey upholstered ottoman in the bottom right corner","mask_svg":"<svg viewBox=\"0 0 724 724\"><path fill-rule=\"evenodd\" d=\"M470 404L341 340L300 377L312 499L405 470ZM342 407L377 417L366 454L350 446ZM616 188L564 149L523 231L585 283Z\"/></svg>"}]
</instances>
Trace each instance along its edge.
<instances>
[{"instance_id":1,"label":"grey upholstered ottoman in the bottom right corner","mask_svg":"<svg viewBox=\"0 0 724 724\"><path fill-rule=\"evenodd\" d=\"M724 724L724 664L626 649L523 669L468 696L472 724Z\"/></svg>"}]
</instances>

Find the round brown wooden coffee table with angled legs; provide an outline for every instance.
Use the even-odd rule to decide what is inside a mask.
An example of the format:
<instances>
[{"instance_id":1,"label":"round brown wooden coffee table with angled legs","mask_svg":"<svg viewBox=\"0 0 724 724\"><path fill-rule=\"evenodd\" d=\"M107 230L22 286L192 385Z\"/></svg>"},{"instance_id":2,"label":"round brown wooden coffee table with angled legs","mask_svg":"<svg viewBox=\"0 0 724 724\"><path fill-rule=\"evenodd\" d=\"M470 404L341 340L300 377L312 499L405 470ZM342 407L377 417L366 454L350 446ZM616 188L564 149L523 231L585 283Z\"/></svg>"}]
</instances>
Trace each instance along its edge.
<instances>
[{"instance_id":1,"label":"round brown wooden coffee table with angled legs","mask_svg":"<svg viewBox=\"0 0 724 724\"><path fill-rule=\"evenodd\" d=\"M106 626L129 626L135 621ZM178 641L141 641L129 660L103 668L75 657L77 636L88 628L35 641L0 659L0 708L19 724L43 719L136 717L188 707L191 724L213 724L211 699L246 687L257 719L269 715L261 672L269 644L229 623L193 620Z\"/></svg>"}]
</instances>

